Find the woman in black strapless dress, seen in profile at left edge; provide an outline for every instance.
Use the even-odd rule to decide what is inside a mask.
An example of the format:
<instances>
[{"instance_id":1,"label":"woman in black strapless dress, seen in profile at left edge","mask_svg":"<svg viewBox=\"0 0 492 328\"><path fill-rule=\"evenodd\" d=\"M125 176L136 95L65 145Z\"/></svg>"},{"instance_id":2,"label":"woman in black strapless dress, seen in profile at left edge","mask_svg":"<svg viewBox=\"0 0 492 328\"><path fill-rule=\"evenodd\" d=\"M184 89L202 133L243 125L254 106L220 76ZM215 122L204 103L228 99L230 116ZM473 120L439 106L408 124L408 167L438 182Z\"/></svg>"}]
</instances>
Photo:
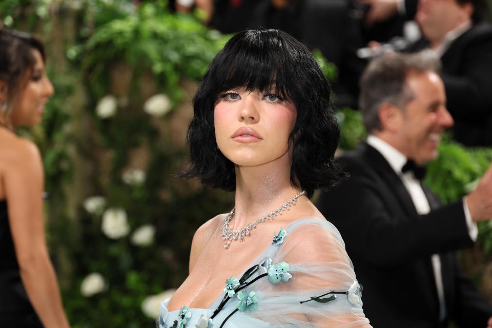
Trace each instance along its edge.
<instances>
[{"instance_id":1,"label":"woman in black strapless dress, seen in profile at left edge","mask_svg":"<svg viewBox=\"0 0 492 328\"><path fill-rule=\"evenodd\" d=\"M43 45L0 27L0 326L69 327L45 241L43 166L18 137L53 94Z\"/></svg>"}]
</instances>

